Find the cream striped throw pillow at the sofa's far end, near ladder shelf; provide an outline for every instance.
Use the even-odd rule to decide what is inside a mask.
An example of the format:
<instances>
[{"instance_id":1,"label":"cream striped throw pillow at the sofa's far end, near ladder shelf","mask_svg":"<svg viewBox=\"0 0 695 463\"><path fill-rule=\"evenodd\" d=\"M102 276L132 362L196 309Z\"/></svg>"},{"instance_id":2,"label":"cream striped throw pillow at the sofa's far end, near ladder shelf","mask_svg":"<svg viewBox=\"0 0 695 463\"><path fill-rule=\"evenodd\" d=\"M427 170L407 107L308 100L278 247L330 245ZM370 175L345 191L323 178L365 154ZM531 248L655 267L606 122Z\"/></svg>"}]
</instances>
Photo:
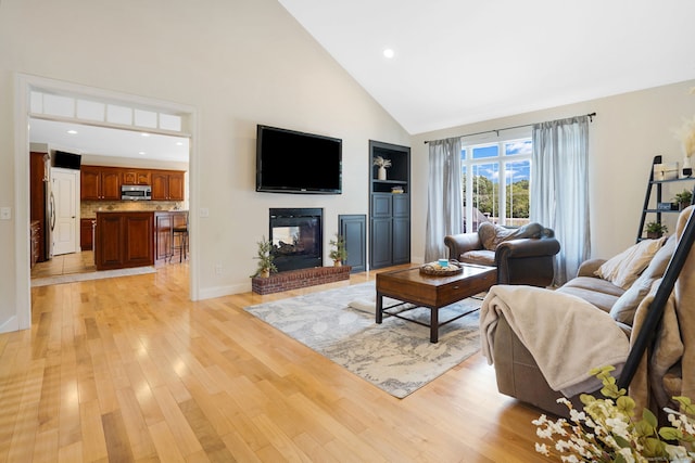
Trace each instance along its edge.
<instances>
[{"instance_id":1,"label":"cream striped throw pillow at the sofa's far end, near ladder shelf","mask_svg":"<svg viewBox=\"0 0 695 463\"><path fill-rule=\"evenodd\" d=\"M606 260L594 274L604 280L608 280L616 286L628 290L640 273L647 268L649 261L652 261L652 258L665 242L666 237L643 240Z\"/></svg>"}]
</instances>

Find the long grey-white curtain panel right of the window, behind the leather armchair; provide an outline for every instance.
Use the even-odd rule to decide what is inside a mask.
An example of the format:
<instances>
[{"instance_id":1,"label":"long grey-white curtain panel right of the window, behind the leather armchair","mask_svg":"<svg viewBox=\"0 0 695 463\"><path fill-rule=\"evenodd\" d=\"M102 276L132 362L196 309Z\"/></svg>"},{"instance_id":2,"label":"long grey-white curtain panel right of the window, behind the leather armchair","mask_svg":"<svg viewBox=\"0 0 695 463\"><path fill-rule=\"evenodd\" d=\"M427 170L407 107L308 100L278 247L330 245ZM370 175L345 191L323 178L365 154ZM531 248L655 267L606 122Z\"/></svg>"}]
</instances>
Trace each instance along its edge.
<instances>
[{"instance_id":1,"label":"long grey-white curtain panel right of the window, behind the leather armchair","mask_svg":"<svg viewBox=\"0 0 695 463\"><path fill-rule=\"evenodd\" d=\"M533 126L532 221L555 231L555 285L573 278L591 255L589 223L589 116Z\"/></svg>"}]
</instances>

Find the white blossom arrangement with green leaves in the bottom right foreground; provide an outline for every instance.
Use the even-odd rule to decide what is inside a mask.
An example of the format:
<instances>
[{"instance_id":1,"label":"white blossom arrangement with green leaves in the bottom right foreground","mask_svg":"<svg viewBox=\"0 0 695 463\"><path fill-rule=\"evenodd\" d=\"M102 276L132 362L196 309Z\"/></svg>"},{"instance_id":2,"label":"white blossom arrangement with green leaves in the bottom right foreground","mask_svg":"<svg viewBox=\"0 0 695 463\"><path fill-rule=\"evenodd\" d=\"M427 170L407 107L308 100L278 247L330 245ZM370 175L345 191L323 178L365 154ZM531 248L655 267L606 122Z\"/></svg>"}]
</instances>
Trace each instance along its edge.
<instances>
[{"instance_id":1,"label":"white blossom arrangement with green leaves in the bottom right foreground","mask_svg":"<svg viewBox=\"0 0 695 463\"><path fill-rule=\"evenodd\" d=\"M668 420L671 426L658 428L657 417L646 408L642 419L635 417L635 403L618 389L610 375L612 366L594 369L590 373L604 385L606 399L581 395L583 411L572 408L569 400L558 399L570 412L570 421L548 420L541 415L532 423L536 435L555 445L535 443L535 451L546 456L559 456L563 462L693 462L695 453L671 442L695 442L695 424L685 415L692 415L695 407L687 397L674 397L683 413L671 409ZM615 400L614 400L615 399Z\"/></svg>"}]
</instances>

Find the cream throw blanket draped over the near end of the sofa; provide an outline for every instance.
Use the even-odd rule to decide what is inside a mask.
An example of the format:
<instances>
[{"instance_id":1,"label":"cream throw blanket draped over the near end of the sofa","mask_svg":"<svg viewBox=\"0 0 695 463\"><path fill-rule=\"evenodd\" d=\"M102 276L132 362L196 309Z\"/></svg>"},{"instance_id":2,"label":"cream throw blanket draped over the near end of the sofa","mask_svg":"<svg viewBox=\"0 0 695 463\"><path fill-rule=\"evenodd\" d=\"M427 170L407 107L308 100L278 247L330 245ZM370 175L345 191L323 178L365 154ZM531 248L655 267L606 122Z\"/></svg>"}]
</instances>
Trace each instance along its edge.
<instances>
[{"instance_id":1,"label":"cream throw blanket draped over the near end of the sofa","mask_svg":"<svg viewBox=\"0 0 695 463\"><path fill-rule=\"evenodd\" d=\"M630 343L615 320L585 300L525 285L490 288L480 309L482 353L492 364L494 331L500 317L531 352L553 390L566 397L589 393L601 383L593 368L624 364ZM581 330L574 330L581 326Z\"/></svg>"}]
</instances>

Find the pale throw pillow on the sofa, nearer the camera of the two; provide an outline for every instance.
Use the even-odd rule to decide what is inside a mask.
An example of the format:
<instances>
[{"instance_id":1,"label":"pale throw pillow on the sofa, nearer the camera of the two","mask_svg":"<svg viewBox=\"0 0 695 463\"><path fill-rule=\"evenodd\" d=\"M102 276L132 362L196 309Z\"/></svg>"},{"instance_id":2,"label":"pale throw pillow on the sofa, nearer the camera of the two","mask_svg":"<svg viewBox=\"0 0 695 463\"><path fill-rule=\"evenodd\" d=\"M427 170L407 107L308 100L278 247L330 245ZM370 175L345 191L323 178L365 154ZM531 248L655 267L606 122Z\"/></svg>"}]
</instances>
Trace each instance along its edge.
<instances>
[{"instance_id":1,"label":"pale throw pillow on the sofa, nearer the camera of the two","mask_svg":"<svg viewBox=\"0 0 695 463\"><path fill-rule=\"evenodd\" d=\"M642 272L640 278L630 286L630 290L626 291L622 296L616 300L616 304L614 304L610 309L610 317L612 317L614 320L632 326L634 313L640 303L642 303L642 299L649 293L652 284L664 276L674 252L675 235L671 235L666 244L656 253L646 270Z\"/></svg>"}]
</instances>

